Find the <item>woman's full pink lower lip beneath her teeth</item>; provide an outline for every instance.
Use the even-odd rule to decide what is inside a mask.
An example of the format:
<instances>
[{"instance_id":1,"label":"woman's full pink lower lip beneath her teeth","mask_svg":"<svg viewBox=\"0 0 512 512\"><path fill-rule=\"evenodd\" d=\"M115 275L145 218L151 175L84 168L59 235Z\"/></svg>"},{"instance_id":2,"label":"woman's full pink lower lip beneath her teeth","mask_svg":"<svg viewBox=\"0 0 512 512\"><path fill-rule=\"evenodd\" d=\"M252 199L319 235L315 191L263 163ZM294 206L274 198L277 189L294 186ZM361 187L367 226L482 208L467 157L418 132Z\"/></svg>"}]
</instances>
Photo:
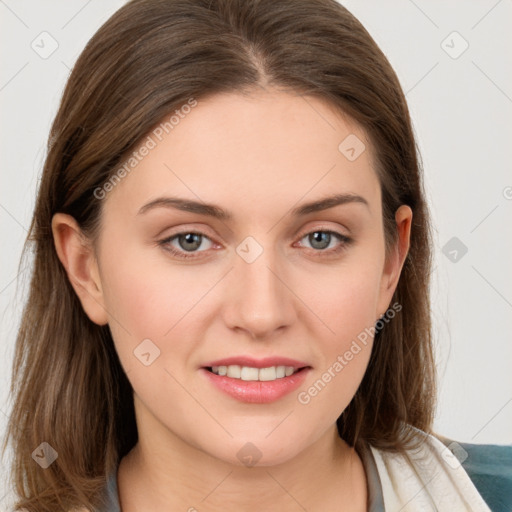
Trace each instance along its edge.
<instances>
[{"instance_id":1,"label":"woman's full pink lower lip beneath her teeth","mask_svg":"<svg viewBox=\"0 0 512 512\"><path fill-rule=\"evenodd\" d=\"M304 382L310 369L303 368L288 377L270 381L232 379L225 375L217 375L206 368L201 368L201 371L214 386L240 402L266 404L275 402L297 389Z\"/></svg>"}]
</instances>

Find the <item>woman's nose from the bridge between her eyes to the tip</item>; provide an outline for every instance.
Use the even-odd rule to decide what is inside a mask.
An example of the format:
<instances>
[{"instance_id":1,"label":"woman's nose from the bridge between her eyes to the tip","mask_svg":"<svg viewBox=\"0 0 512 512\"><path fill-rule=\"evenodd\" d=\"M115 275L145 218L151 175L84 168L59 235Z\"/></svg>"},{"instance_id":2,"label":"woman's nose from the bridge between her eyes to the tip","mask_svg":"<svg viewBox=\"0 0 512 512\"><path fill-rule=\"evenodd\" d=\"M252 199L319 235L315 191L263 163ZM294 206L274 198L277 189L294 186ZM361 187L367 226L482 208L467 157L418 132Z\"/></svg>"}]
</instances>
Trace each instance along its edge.
<instances>
[{"instance_id":1,"label":"woman's nose from the bridge between her eyes to the tip","mask_svg":"<svg viewBox=\"0 0 512 512\"><path fill-rule=\"evenodd\" d=\"M293 294L283 282L282 262L274 247L247 237L237 249L231 277L228 306L231 327L249 331L253 337L270 335L294 319Z\"/></svg>"}]
</instances>

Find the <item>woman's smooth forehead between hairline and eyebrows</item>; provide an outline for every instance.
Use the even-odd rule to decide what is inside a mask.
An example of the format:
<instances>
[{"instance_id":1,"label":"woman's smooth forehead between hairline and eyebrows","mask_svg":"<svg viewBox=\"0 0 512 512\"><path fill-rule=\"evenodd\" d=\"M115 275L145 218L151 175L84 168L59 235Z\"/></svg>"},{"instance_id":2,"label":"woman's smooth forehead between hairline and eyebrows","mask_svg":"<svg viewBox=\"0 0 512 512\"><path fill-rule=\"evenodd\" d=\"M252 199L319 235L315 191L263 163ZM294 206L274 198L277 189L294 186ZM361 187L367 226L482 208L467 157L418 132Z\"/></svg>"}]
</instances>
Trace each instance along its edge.
<instances>
[{"instance_id":1,"label":"woman's smooth forehead between hairline and eyebrows","mask_svg":"<svg viewBox=\"0 0 512 512\"><path fill-rule=\"evenodd\" d=\"M144 139L138 149L151 149L108 203L135 214L167 193L275 216L301 199L340 192L380 209L370 142L323 100L277 90L222 93L177 114Z\"/></svg>"}]
</instances>

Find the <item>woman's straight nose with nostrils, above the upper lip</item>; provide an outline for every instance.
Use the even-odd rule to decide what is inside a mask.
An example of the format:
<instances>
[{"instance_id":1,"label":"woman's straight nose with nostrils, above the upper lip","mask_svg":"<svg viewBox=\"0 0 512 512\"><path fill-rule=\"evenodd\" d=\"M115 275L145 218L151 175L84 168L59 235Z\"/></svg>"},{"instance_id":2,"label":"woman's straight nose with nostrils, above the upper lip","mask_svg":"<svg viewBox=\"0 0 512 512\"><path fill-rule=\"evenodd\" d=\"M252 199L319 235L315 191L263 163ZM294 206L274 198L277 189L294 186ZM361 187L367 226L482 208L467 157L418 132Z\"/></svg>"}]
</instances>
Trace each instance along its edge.
<instances>
[{"instance_id":1,"label":"woman's straight nose with nostrils, above the upper lip","mask_svg":"<svg viewBox=\"0 0 512 512\"><path fill-rule=\"evenodd\" d=\"M267 339L296 320L297 298L285 262L265 248L252 263L235 255L227 284L224 320L231 328L253 339Z\"/></svg>"}]
</instances>

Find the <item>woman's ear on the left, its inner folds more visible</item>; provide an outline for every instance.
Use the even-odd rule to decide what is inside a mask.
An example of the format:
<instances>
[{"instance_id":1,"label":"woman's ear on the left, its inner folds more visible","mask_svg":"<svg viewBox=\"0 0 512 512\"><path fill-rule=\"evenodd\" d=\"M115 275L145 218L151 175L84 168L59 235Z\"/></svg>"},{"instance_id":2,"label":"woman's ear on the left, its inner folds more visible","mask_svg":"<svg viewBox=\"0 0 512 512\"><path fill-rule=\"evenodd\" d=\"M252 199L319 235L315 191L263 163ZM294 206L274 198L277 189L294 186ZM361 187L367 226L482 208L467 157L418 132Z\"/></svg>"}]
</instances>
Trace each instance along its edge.
<instances>
[{"instance_id":1,"label":"woman's ear on the left, its inner folds more visible","mask_svg":"<svg viewBox=\"0 0 512 512\"><path fill-rule=\"evenodd\" d=\"M52 218L52 232L57 256L85 313L94 323L105 325L108 316L92 245L71 215L56 213Z\"/></svg>"}]
</instances>

